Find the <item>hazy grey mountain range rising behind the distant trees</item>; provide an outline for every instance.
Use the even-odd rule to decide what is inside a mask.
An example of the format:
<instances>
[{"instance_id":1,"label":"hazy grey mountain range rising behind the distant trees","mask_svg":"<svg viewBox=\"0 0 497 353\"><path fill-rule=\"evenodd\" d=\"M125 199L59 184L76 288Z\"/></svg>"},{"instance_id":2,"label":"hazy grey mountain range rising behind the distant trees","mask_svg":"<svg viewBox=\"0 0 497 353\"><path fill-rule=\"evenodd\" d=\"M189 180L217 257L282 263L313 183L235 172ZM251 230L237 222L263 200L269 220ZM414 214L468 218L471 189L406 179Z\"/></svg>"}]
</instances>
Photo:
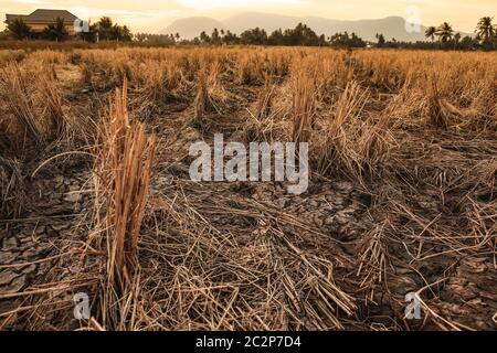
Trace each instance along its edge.
<instances>
[{"instance_id":1,"label":"hazy grey mountain range rising behind the distant trees","mask_svg":"<svg viewBox=\"0 0 497 353\"><path fill-rule=\"evenodd\" d=\"M425 26L421 25L420 32L410 33L405 31L405 20L401 17L388 17L378 20L359 20L359 21L341 21L325 18L298 18L271 13L243 12L229 19L219 21L211 18L186 18L180 19L159 33L179 33L183 39L193 39L199 36L202 31L211 34L214 29L230 30L233 33L242 33L245 30L262 28L271 34L278 29L293 29L299 22L307 24L318 35L326 34L329 36L338 32L348 31L356 32L359 36L367 41L376 41L376 34L382 33L387 40L395 39L398 41L415 42L424 41ZM468 35L462 33L463 35Z\"/></svg>"}]
</instances>

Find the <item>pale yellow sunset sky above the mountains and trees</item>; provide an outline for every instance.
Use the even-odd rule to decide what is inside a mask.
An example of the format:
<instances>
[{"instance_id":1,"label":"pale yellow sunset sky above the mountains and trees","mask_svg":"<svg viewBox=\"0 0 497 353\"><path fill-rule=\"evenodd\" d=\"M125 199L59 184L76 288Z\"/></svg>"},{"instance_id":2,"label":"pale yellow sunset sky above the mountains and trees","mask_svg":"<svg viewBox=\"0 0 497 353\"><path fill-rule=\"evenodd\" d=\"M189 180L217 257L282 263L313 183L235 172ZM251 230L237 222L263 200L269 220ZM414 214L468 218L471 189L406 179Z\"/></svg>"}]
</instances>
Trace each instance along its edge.
<instances>
[{"instance_id":1,"label":"pale yellow sunset sky above the mountains and trees","mask_svg":"<svg viewBox=\"0 0 497 353\"><path fill-rule=\"evenodd\" d=\"M232 14L257 11L337 20L379 19L413 15L419 9L420 23L437 25L447 21L458 31L473 32L484 15L497 14L497 0L1 0L0 19L6 13L28 14L35 9L66 9L82 19L109 15L128 24L134 32L155 32L176 19L205 15L224 19ZM1 21L0 29L4 28ZM414 22L414 21L412 21Z\"/></svg>"}]
</instances>

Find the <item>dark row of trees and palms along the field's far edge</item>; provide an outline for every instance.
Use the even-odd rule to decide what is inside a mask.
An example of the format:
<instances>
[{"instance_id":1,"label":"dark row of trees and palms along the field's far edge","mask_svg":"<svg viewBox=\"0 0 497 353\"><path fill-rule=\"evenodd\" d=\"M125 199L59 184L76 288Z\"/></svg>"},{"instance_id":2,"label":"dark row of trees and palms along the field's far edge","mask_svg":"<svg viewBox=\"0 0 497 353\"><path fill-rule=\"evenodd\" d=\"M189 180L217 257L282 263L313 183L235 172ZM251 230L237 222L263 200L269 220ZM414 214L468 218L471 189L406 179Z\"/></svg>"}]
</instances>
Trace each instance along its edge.
<instances>
[{"instance_id":1,"label":"dark row of trees and palms along the field's far edge","mask_svg":"<svg viewBox=\"0 0 497 353\"><path fill-rule=\"evenodd\" d=\"M376 34L376 42L368 42L356 33L341 32L330 36L318 35L309 26L298 23L294 29L276 30L267 33L264 29L255 28L242 32L240 35L229 30L214 29L212 33L200 33L192 40L181 39L179 33L171 34L131 34L126 25L114 23L108 17L101 18L89 25L89 31L77 34L81 39L95 42L97 38L106 41L134 41L145 45L282 45L282 46L337 46L337 47L394 47L394 49L453 49L453 50L495 50L497 47L497 26L490 17L482 18L475 29L475 36L462 36L455 32L448 22L425 30L427 41L402 42L395 39L385 40L382 33ZM63 41L68 33L62 19L55 19L42 33L34 33L22 19L15 19L7 25L6 36L18 40L47 39Z\"/></svg>"}]
</instances>

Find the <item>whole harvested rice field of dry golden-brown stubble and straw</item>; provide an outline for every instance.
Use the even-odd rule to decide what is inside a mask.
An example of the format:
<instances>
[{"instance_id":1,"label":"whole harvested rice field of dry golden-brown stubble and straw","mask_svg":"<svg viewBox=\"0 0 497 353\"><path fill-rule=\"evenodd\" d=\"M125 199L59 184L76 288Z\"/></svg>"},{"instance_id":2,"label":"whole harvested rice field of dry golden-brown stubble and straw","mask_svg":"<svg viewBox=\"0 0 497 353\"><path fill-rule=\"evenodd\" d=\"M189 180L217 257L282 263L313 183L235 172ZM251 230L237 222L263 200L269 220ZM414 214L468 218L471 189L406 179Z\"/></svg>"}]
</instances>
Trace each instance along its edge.
<instances>
[{"instance_id":1,"label":"whole harvested rice field of dry golden-brown stubble and straw","mask_svg":"<svg viewBox=\"0 0 497 353\"><path fill-rule=\"evenodd\" d=\"M214 133L308 190L191 181ZM496 137L496 53L0 51L0 329L495 330Z\"/></svg>"}]
</instances>

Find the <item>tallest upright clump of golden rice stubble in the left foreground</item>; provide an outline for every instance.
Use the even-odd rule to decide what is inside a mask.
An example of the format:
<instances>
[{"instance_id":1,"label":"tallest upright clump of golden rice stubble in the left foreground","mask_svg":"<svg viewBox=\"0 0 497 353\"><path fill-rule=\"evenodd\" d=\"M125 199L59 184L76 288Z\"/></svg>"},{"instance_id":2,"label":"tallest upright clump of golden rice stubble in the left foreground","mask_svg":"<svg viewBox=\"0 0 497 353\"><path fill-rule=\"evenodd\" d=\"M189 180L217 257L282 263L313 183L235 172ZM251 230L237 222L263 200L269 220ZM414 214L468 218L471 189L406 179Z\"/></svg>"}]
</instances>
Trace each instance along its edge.
<instances>
[{"instance_id":1,"label":"tallest upright clump of golden rice stubble in the left foreground","mask_svg":"<svg viewBox=\"0 0 497 353\"><path fill-rule=\"evenodd\" d=\"M117 313L117 318L106 319L120 328L127 311L119 298L129 293L139 270L138 237L156 146L155 136L147 138L145 126L129 119L126 95L125 79L123 89L116 89L110 119L104 124L101 157L95 165L102 178L102 186L96 190L105 197L105 217L101 222L108 252L106 304L120 308L108 312Z\"/></svg>"}]
</instances>

